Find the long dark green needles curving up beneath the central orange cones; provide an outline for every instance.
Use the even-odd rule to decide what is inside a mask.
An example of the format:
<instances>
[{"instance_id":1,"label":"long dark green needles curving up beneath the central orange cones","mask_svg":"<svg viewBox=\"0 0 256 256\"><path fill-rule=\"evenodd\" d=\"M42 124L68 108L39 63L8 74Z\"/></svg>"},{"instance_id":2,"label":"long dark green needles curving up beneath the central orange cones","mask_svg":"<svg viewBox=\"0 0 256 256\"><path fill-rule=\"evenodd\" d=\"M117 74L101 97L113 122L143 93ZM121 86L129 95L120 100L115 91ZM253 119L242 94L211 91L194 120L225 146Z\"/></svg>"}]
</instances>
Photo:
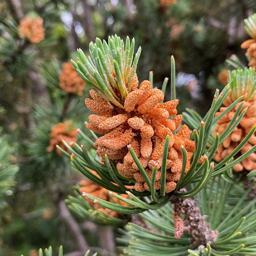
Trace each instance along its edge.
<instances>
[{"instance_id":1,"label":"long dark green needles curving up beneath the central orange cones","mask_svg":"<svg viewBox=\"0 0 256 256\"><path fill-rule=\"evenodd\" d=\"M123 178L119 175L119 173L116 170L116 166L114 163L112 163L112 166L106 166L105 164L100 163L97 159L94 159L89 156L87 153L86 149L83 148L81 149L77 144L72 144L71 146L65 143L65 145L68 147L68 149L73 153L71 156L71 160L73 164L78 168L80 172L82 172L87 178L92 180L93 182L99 184L100 186L107 188L115 193L118 194L125 194L131 193L131 196L133 198L133 201L129 201L129 204L131 206L120 206L116 205L111 202L106 202L102 199L99 199L95 196L86 194L86 196L92 200L95 200L97 204L99 204L102 207L106 207L110 210L116 211L116 212L121 212L121 213L127 213L127 214L133 214L133 213L139 213L139 212L144 212L148 209L158 209L161 208L164 204L168 203L170 198L175 195L178 197L182 198L187 198L196 195L196 193L200 192L206 185L207 181L212 177L219 175L225 171L227 171L230 167L234 166L238 161L241 161L244 159L248 154L251 154L252 151L255 150L253 147L250 151L246 152L244 155L240 156L239 159L236 159L233 162L230 162L228 165L226 163L236 154L236 151L239 150L244 146L244 144L249 140L253 132L255 131L256 127L252 129L252 131L246 136L246 138L242 141L240 145L236 148L234 152L232 152L230 155L228 155L225 159L225 161L222 161L221 163L217 164L214 166L212 163L210 164L210 161L212 160L213 155L215 154L218 146L220 143L227 138L227 136L235 129L236 125L240 122L241 118L244 116L245 111L242 111L240 113L240 110L242 108L242 105L240 106L239 109L237 109L236 114L231 121L231 124L225 132L219 137L217 136L215 139L212 138L213 140L213 146L209 147L207 145L207 142L209 141L210 137L210 130L212 125L214 124L215 121L215 113L219 109L220 105L222 102L228 97L229 91L228 91L228 86L226 86L223 91L219 94L217 91L214 96L214 100L212 103L212 108L209 110L209 112L206 114L206 116L203 118L205 122L200 123L199 127L199 132L194 130L193 136L195 140L195 153L193 156L193 161L191 162L190 168L187 173L184 173L186 163L183 162L183 174L177 184L176 189L183 188L187 186L188 184L198 182L197 185L193 188L191 188L188 192L186 193L180 193L180 192L171 192L168 194L159 194L155 189L151 189L151 192L138 192L134 189L126 189L125 186L127 185L132 185L135 183L133 179L128 179L128 178ZM83 135L84 137L84 135ZM86 137L86 136L85 136ZM87 137L86 137L87 138ZM89 138L87 138L88 140ZM166 138L166 141L168 141L168 137ZM166 142L167 143L167 142ZM60 148L59 148L60 149ZM61 150L61 149L60 149ZM63 150L62 150L63 151ZM148 178L148 175L146 174L144 168L141 166L140 161L136 154L134 153L134 150L132 148L129 148L129 152L132 155L132 158L134 162L137 164L138 169L140 170L142 176L146 181L148 181L148 186L151 188L151 183L154 180L151 178L151 180ZM64 153L64 152L63 152ZM69 156L66 152L64 153L65 155ZM186 155L186 151L183 152L184 156ZM204 163L201 165L198 165L197 162L201 156L204 156ZM164 159L164 156L163 156ZM108 162L108 158L106 156L106 162ZM94 167L93 167L94 166ZM165 166L165 163L162 163L162 166ZM93 175L89 169L92 169L100 175L100 178L96 177ZM111 171L109 171L109 169ZM166 168L163 167L162 169L162 175L166 173ZM113 176L114 175L114 176ZM114 185L113 183L117 184ZM119 186L119 184L123 184L123 186ZM163 183L161 184L162 186ZM154 188L154 187L153 187ZM164 191L163 188L160 191ZM145 203L143 200L141 201L139 197L142 196L152 196L152 201L150 203ZM126 202L126 198L120 197L120 200Z\"/></svg>"}]
</instances>

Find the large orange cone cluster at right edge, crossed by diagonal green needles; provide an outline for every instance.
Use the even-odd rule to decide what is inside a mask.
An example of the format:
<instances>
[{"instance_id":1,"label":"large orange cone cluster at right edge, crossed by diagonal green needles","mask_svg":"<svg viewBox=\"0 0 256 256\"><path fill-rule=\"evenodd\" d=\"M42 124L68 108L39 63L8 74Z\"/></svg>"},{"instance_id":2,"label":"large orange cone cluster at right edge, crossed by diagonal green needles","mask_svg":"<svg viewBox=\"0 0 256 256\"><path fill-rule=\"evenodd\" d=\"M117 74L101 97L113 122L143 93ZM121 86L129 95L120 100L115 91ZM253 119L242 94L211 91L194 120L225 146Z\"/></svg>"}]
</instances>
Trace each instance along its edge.
<instances>
[{"instance_id":1,"label":"large orange cone cluster at right edge, crossed by diagonal green needles","mask_svg":"<svg viewBox=\"0 0 256 256\"><path fill-rule=\"evenodd\" d=\"M225 107L220 108L220 112L216 113L216 116L219 116L225 109L230 106L232 101L228 97L223 104ZM217 126L215 128L215 131L221 134L224 132L228 124L230 123L230 120L235 115L235 111L239 107L241 102L237 103L234 108L232 108L226 115L224 115L220 120L217 121ZM215 160L217 162L222 161L225 157L227 157L237 146L242 142L242 140L245 138L245 136L250 132L252 127L256 124L256 97L254 97L250 102L244 101L244 105L241 109L244 110L244 108L248 107L247 111L245 112L244 117L240 121L240 123L237 125L235 130L226 138L226 140L223 141L223 143L220 145L220 147L217 149L215 153ZM254 145L256 144L256 134L254 133L252 137L249 139L249 141L244 145L243 148L240 149L240 151L236 154L235 158L241 156L242 154L246 153L248 150L250 150ZM233 169L237 172L241 172L244 169L247 171L252 171L256 169L256 153L253 152L251 155L246 157L244 160L242 160L241 163L236 164L233 166Z\"/></svg>"}]
</instances>

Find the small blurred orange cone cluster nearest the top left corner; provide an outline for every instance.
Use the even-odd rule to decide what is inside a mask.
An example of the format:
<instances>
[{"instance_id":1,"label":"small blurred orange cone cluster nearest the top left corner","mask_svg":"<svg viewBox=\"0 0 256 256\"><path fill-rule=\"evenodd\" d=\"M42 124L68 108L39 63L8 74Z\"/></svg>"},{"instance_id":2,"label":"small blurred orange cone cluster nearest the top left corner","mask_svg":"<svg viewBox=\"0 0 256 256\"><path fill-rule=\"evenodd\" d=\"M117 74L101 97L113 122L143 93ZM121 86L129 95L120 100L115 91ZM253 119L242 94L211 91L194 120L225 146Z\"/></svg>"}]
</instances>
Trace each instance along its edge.
<instances>
[{"instance_id":1,"label":"small blurred orange cone cluster nearest the top left corner","mask_svg":"<svg viewBox=\"0 0 256 256\"><path fill-rule=\"evenodd\" d=\"M19 37L28 38L31 43L39 43L44 40L44 20L40 17L26 16L20 20Z\"/></svg>"}]
</instances>

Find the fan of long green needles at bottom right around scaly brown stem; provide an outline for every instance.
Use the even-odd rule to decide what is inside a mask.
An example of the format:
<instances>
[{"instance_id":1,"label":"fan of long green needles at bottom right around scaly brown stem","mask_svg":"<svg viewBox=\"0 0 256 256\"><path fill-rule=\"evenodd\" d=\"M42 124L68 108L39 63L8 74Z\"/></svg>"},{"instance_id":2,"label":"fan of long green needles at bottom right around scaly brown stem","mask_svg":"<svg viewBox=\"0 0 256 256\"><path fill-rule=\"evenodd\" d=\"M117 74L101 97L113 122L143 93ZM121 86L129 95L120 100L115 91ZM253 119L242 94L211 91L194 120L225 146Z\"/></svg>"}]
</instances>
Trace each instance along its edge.
<instances>
[{"instance_id":1,"label":"fan of long green needles at bottom right around scaly brown stem","mask_svg":"<svg viewBox=\"0 0 256 256\"><path fill-rule=\"evenodd\" d=\"M256 221L253 216L256 210L251 209L256 198L252 201L247 198L252 186L244 191L241 183L230 183L218 176L195 196L201 206L201 214L208 215L205 220L212 230L218 231L217 240L211 244L198 244L198 248L193 249L190 235L185 232L175 239L172 204L168 203L161 209L140 213L148 229L134 223L128 223L125 231L120 229L123 236L117 240L120 244L129 244L120 248L124 254L134 256L151 256L156 252L158 255L177 256L255 255ZM152 228L160 232L152 231Z\"/></svg>"}]
</instances>

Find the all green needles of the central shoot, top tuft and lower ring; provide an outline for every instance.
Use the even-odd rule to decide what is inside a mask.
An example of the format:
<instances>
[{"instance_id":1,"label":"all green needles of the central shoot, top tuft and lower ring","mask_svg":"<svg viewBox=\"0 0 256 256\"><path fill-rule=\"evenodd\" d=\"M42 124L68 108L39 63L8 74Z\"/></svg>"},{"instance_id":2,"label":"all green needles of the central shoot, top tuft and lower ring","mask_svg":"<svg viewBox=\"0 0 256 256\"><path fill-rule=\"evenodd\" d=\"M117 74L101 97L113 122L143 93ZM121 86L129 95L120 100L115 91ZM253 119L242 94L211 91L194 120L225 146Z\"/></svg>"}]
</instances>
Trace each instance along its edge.
<instances>
[{"instance_id":1,"label":"all green needles of the central shoot, top tuft and lower ring","mask_svg":"<svg viewBox=\"0 0 256 256\"><path fill-rule=\"evenodd\" d=\"M129 48L129 45L130 43L128 38L126 41L125 50L124 50L123 41L117 36L112 38L109 37L108 44L104 41L103 43L101 43L100 39L97 39L95 44L92 44L92 43L90 44L90 53L92 55L92 59L90 59L90 57L86 58L84 53L81 50L78 50L78 55L80 59L78 59L77 65L73 62L78 74L80 73L82 74L82 70L84 70L84 76L85 74L87 74L87 80L89 80L89 78L91 79L90 83L92 88L93 89L96 88L95 89L96 92L99 92L100 95L104 95L105 99L108 100L110 104L113 104L113 101L111 101L111 99L115 98L115 94L111 93L110 92L111 90L117 90L117 89L119 90L119 95L121 96L118 102L120 104L122 103L122 100L124 100L124 98L122 97L126 92L125 90L123 90L124 88L122 89L122 86L120 86L120 84L122 83L125 84L125 81L129 81L130 79L130 78L127 78L127 75L129 72L128 71L126 72L125 70L127 70L127 66L129 69L130 67L129 65L132 62L134 46L132 43ZM112 71L115 70L116 72L114 77L115 78L114 81L116 84L114 82L111 82L111 79L109 79L107 76L108 73L107 72L104 73L103 69L101 68L101 66L102 67L104 66L99 61L100 60L99 56L101 55L101 53L105 57L104 60L106 61L109 70L112 70ZM135 60L136 60L136 56L135 56ZM117 72L118 70L123 70L123 71L119 74ZM171 91L173 95L172 97L174 97L175 96L175 63L173 58L172 58L171 75L172 75ZM151 79L153 79L152 72L150 74L150 77ZM248 75L248 77L251 77L251 76ZM111 90L108 89L108 86L111 86ZM127 86L127 83L125 84L125 88L126 89L128 88L128 92L129 92L129 86ZM165 88L165 84L163 86L163 90L164 88ZM122 93L124 93L123 96L122 96ZM225 161L222 161L221 163L215 166L213 162L211 163L212 157L214 156L220 143L222 143L228 137L228 135L234 131L234 129L239 124L240 120L243 118L246 111L246 109L244 109L240 113L240 110L242 108L242 104L240 104L239 108L236 110L234 118L231 120L230 124L225 129L225 131L220 136L217 135L216 138L214 138L211 134L211 129L217 120L215 118L215 113L218 111L223 101L229 96L229 94L230 94L229 85L227 85L222 90L221 93L219 93L219 90L216 90L213 101L212 101L212 106L208 111L208 113L204 116L204 118L201 118L195 111L190 111L191 116L189 114L186 116L188 119L187 121L189 123L189 126L191 127L192 125L194 125L194 127L196 128L194 129L193 134L191 134L191 137L190 137L190 139L195 141L195 150L191 158L190 168L186 173L185 173L186 161L183 161L180 180L176 185L176 189L171 193L164 193L165 182L161 182L160 190L156 191L154 186L155 173L153 173L154 175L152 175L151 179L149 179L145 169L142 167L133 148L129 145L128 145L128 150L132 156L132 159L137 165L142 177L145 179L150 192L138 192L135 189L126 188L126 186L128 185L134 185L136 180L122 177L118 173L116 169L116 165L114 163L111 163L112 165L108 164L109 160L107 156L105 156L106 164L102 164L97 159L89 156L85 148L80 148L75 143L72 143L72 145L68 145L67 143L65 143L66 147L72 152L71 161L76 166L76 168L80 172L82 172L88 179L92 180L93 182L97 183L103 188L113 191L114 193L117 193L117 194L127 193L132 196L133 200L129 200L128 202L128 199L114 194L113 196L118 196L120 200L130 204L130 206L123 206L123 205L116 205L114 203L104 201L102 199L99 199L89 194L86 194L86 196L94 200L97 204L99 204L102 207L106 207L110 210L121 212L121 213L127 213L127 214L144 212L148 209L151 209L151 210L159 209L164 204L168 203L168 201L172 196L177 196L180 198L188 198L191 196L195 196L204 188L204 186L207 184L208 180L212 176L216 176L223 172L226 172L230 167L234 166L239 161L242 161L246 156L248 156L248 154L251 154L251 152L255 150L255 148L253 147L251 150L246 152L244 155L241 155L235 161L229 162L234 156L234 154L236 153L236 151L242 148L244 144L250 139L250 137L252 136L253 132L256 129L256 127L253 127L252 131L244 138L242 143L238 145L237 148L225 158ZM118 100L118 99L115 98L115 100ZM87 136L84 136L84 134L82 135L87 141L89 141L89 138ZM97 136L95 137L95 139L97 139ZM168 149L167 147L168 141L169 141L169 137L167 136L165 139L165 146L166 146L165 149L166 148ZM208 144L209 141L211 142L211 145L212 145L211 147L209 147L209 144ZM184 148L181 148L181 152L183 155L183 159L186 159L187 158L186 150ZM162 166L161 180L165 180L165 177L166 177L166 158L167 158L166 154L167 153L168 153L168 150L164 150L164 153L162 156L162 165L161 165ZM68 155L66 152L64 154L70 157L70 155ZM198 161L202 156L204 156L204 163L201 165L198 165ZM228 164L226 165L227 162ZM98 176L92 174L90 169L93 169L98 174ZM178 192L180 188L186 187L188 184L192 184L192 183L196 183L196 185L192 187L190 190L188 190L188 192ZM150 201L149 203L146 203L145 199L141 200L141 197L145 197L149 195L152 196L152 201Z\"/></svg>"}]
</instances>

